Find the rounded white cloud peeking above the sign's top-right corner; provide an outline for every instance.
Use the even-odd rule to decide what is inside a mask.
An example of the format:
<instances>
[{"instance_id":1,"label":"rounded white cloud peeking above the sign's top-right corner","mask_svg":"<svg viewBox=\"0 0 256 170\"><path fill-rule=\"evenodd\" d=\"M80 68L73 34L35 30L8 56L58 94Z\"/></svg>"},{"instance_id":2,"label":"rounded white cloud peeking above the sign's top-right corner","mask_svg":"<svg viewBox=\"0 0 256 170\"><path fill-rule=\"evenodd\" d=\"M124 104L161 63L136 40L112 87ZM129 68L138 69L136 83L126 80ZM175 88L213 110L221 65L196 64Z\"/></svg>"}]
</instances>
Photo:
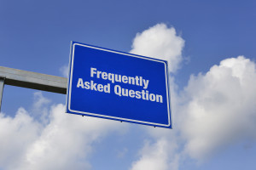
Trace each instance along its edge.
<instances>
[{"instance_id":1,"label":"rounded white cloud peeking above the sign's top-right corner","mask_svg":"<svg viewBox=\"0 0 256 170\"><path fill-rule=\"evenodd\" d=\"M137 33L132 43L132 54L141 54L169 61L169 70L177 71L182 61L184 40L176 30L165 24L157 24L142 33Z\"/></svg>"}]
</instances>

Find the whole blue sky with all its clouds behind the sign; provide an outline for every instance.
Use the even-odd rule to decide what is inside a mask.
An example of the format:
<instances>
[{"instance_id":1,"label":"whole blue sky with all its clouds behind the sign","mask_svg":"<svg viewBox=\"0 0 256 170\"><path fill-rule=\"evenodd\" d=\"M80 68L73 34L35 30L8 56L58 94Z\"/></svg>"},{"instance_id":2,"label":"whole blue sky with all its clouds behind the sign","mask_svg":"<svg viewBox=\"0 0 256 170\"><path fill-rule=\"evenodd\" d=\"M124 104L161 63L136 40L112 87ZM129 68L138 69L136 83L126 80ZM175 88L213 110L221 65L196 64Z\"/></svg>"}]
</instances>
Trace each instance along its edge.
<instances>
[{"instance_id":1,"label":"whole blue sky with all its clouds behind the sign","mask_svg":"<svg viewBox=\"0 0 256 170\"><path fill-rule=\"evenodd\" d=\"M5 86L0 170L256 167L255 1L0 0L1 66L66 77L70 42L169 61L173 129Z\"/></svg>"}]
</instances>

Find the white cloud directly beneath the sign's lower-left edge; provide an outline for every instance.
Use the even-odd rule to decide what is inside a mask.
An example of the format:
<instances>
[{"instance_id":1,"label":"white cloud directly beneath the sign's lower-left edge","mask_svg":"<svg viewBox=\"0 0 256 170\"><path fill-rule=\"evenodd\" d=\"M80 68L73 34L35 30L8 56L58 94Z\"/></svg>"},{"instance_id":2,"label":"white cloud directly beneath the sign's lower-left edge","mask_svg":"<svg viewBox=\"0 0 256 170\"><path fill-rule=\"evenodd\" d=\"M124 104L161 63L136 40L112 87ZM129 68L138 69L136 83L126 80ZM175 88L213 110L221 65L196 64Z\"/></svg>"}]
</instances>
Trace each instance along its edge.
<instances>
[{"instance_id":1,"label":"white cloud directly beneath the sign's lower-left edge","mask_svg":"<svg viewBox=\"0 0 256 170\"><path fill-rule=\"evenodd\" d=\"M85 120L64 111L64 105L52 107L50 123L26 151L23 169L90 168L85 158L90 155L91 144L111 131L114 123L91 117Z\"/></svg>"}]
</instances>

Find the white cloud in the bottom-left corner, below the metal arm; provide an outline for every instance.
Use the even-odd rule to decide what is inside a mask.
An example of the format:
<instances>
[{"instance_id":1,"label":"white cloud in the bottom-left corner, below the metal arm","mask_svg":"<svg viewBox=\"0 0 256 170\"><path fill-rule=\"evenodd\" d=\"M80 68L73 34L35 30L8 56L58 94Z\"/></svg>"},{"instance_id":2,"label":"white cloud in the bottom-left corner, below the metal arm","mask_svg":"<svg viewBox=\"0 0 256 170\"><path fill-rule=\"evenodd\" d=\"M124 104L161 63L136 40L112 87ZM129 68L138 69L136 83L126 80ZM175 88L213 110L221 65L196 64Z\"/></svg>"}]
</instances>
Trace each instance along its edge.
<instances>
[{"instance_id":1,"label":"white cloud in the bottom-left corner, below the metal arm","mask_svg":"<svg viewBox=\"0 0 256 170\"><path fill-rule=\"evenodd\" d=\"M23 153L37 139L41 126L34 122L25 109L20 108L15 117L0 114L0 168L15 169Z\"/></svg>"}]
</instances>

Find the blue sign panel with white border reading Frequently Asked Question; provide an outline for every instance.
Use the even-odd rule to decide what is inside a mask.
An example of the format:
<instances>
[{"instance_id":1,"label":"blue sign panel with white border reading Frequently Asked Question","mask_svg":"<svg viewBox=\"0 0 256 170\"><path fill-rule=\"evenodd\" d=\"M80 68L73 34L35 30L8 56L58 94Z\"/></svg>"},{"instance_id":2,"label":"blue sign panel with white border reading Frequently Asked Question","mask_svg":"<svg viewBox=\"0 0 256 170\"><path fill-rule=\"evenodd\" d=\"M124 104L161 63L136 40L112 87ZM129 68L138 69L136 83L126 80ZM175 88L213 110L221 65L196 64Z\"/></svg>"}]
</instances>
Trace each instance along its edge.
<instances>
[{"instance_id":1,"label":"blue sign panel with white border reading Frequently Asked Question","mask_svg":"<svg viewBox=\"0 0 256 170\"><path fill-rule=\"evenodd\" d=\"M172 128L167 61L71 45L67 113Z\"/></svg>"}]
</instances>

